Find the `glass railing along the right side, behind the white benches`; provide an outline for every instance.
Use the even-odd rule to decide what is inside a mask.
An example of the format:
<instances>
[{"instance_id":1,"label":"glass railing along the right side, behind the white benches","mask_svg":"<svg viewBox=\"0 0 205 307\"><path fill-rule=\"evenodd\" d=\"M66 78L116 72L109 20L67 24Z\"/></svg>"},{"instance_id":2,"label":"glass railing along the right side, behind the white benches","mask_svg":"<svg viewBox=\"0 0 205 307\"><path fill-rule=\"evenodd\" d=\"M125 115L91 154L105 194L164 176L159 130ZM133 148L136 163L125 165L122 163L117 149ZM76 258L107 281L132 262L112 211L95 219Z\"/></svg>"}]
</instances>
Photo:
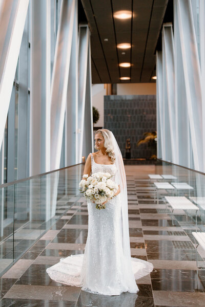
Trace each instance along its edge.
<instances>
[{"instance_id":1,"label":"glass railing along the right side, behind the white benches","mask_svg":"<svg viewBox=\"0 0 205 307\"><path fill-rule=\"evenodd\" d=\"M158 189L158 201L160 204L165 203L165 208L167 203L167 212L173 213L176 226L181 226L194 242L192 235L192 232L195 231L194 229L196 231L205 231L205 174L160 159L157 159L152 173L161 176L161 179L151 179L153 186L154 182L161 182L170 183L174 187L172 190ZM175 196L171 201L178 204L179 209L173 210L177 206L170 206L166 196ZM183 197L183 199L179 199L179 197ZM189 205L192 206L192 204L196 208L189 210ZM183 206L188 209L183 209Z\"/></svg>"}]
</instances>

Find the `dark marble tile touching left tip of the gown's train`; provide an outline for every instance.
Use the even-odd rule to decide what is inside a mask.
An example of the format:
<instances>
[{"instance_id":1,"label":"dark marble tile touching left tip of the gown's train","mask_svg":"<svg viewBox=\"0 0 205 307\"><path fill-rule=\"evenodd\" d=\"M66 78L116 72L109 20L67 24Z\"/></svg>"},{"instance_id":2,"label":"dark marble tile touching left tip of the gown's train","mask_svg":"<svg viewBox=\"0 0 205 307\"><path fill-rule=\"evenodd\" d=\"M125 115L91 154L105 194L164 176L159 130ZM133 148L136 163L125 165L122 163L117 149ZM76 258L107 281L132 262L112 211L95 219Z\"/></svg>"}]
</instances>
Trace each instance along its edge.
<instances>
[{"instance_id":1,"label":"dark marble tile touching left tip of the gown's train","mask_svg":"<svg viewBox=\"0 0 205 307\"><path fill-rule=\"evenodd\" d=\"M38 286L63 286L50 279L46 269L51 265L31 265L15 284L29 284Z\"/></svg>"}]
</instances>

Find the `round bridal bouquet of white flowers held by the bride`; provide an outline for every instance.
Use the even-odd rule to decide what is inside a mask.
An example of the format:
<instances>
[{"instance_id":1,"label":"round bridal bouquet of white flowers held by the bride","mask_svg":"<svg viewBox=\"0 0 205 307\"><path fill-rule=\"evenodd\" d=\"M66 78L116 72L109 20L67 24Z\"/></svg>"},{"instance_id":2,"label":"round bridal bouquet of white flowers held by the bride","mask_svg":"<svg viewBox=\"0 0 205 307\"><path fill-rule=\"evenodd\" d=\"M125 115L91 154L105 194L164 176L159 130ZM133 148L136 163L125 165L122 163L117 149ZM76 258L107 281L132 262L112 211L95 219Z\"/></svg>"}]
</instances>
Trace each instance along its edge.
<instances>
[{"instance_id":1,"label":"round bridal bouquet of white flowers held by the bride","mask_svg":"<svg viewBox=\"0 0 205 307\"><path fill-rule=\"evenodd\" d=\"M112 199L114 193L118 190L118 185L110 178L108 172L96 172L90 177L84 174L83 180L79 183L79 189L84 192L85 198L96 204L97 209L105 209L105 203L108 199Z\"/></svg>"}]
</instances>

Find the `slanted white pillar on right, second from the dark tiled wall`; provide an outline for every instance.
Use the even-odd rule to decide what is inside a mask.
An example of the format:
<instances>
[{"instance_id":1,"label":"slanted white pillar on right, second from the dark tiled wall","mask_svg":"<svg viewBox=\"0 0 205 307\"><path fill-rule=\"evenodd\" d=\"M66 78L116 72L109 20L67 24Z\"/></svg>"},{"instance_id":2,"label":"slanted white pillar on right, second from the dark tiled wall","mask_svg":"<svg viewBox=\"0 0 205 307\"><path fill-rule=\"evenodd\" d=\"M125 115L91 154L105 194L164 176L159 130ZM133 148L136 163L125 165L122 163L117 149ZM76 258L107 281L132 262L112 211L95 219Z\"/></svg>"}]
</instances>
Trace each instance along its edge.
<instances>
[{"instance_id":1,"label":"slanted white pillar on right, second from the dark tiled wall","mask_svg":"<svg viewBox=\"0 0 205 307\"><path fill-rule=\"evenodd\" d=\"M166 104L165 130L166 135L166 160L176 163L176 125L175 125L175 86L174 86L174 38L172 24L164 24L162 28L162 58L163 58L163 80L164 100ZM169 127L168 127L169 125Z\"/></svg>"}]
</instances>

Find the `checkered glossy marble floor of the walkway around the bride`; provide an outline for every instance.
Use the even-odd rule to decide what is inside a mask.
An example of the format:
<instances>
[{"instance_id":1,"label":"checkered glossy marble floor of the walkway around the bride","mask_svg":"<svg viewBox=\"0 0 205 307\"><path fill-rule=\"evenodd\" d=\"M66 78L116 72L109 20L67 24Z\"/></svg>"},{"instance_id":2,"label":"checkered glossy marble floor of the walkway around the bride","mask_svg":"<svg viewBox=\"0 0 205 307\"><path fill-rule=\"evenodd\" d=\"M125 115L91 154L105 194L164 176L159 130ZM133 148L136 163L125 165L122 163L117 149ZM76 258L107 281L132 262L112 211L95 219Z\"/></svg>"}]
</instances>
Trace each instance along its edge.
<instances>
[{"instance_id":1,"label":"checkered glossy marble floor of the walkway around the bride","mask_svg":"<svg viewBox=\"0 0 205 307\"><path fill-rule=\"evenodd\" d=\"M204 306L205 271L197 270L192 231L195 220L184 212L172 216L147 179L154 166L127 166L132 257L153 263L154 270L136 280L137 294L92 295L52 281L46 269L61 257L83 253L88 211L81 198L0 279L1 306L167 307ZM154 169L153 169L154 173ZM205 257L199 249L199 260Z\"/></svg>"}]
</instances>

